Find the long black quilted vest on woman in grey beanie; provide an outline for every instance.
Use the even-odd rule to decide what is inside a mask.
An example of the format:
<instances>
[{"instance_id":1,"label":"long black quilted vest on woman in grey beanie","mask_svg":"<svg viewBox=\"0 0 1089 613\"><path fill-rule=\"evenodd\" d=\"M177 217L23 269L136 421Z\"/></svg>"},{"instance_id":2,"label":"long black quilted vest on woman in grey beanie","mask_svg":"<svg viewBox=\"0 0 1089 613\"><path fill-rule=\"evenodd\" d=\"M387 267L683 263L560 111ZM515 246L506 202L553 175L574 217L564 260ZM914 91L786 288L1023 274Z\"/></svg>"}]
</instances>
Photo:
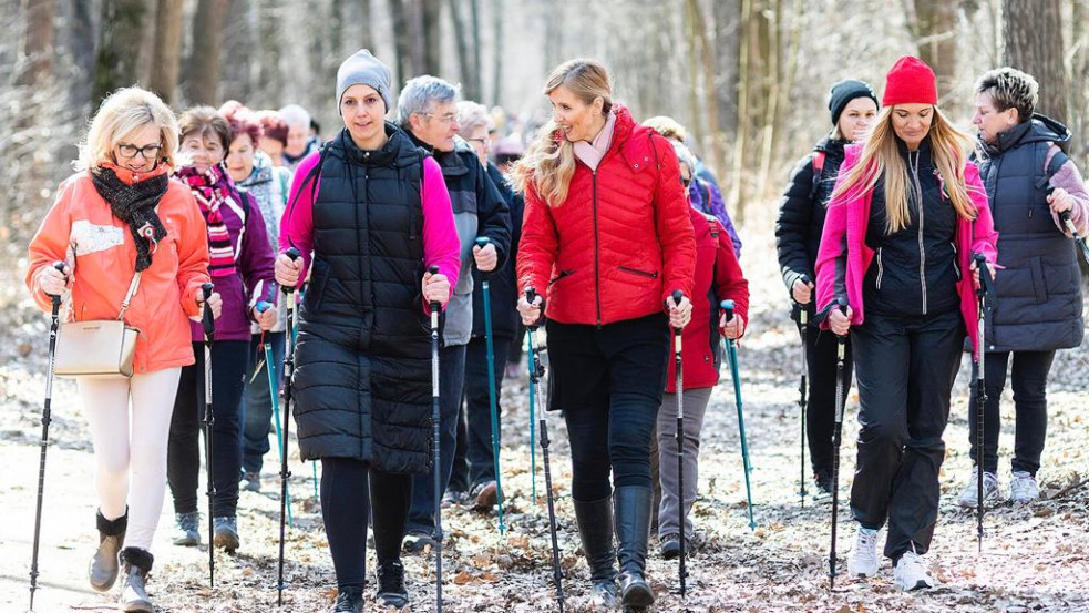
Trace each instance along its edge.
<instances>
[{"instance_id":1,"label":"long black quilted vest on woman in grey beanie","mask_svg":"<svg viewBox=\"0 0 1089 613\"><path fill-rule=\"evenodd\" d=\"M427 153L392 124L386 145L326 144L294 390L304 459L379 470L430 463L431 345L420 307ZM378 253L381 248L381 253Z\"/></svg>"}]
</instances>

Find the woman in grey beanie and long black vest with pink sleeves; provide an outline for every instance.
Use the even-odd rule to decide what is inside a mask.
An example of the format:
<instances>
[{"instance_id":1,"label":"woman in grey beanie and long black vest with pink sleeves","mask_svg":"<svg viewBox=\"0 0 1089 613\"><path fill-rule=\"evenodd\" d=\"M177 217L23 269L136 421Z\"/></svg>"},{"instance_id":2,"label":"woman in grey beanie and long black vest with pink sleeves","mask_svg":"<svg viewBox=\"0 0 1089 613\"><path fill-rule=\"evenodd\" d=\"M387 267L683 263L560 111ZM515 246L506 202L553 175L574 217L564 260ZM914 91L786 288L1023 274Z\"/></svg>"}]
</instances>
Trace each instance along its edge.
<instances>
[{"instance_id":1,"label":"woman in grey beanie and long black vest with pink sleeves","mask_svg":"<svg viewBox=\"0 0 1089 613\"><path fill-rule=\"evenodd\" d=\"M445 305L459 241L439 165L383 115L390 70L367 50L337 72L345 130L299 165L280 227L276 280L312 266L296 348L304 460L321 460L321 512L337 571L335 611L362 611L367 520L378 600L408 603L401 539L412 474L429 466L427 304ZM440 273L425 274L429 266ZM422 283L421 283L422 279Z\"/></svg>"}]
</instances>

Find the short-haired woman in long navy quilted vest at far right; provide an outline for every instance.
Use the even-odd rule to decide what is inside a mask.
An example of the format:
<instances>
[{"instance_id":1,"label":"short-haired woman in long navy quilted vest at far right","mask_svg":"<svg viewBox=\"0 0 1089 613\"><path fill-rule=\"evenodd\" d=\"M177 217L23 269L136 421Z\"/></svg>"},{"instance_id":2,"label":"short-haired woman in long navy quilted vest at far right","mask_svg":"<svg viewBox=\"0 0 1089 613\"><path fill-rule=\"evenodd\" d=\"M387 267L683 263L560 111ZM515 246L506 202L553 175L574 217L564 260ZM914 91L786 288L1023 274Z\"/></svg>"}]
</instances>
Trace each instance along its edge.
<instances>
[{"instance_id":1,"label":"short-haired woman in long navy quilted vest at far right","mask_svg":"<svg viewBox=\"0 0 1089 613\"><path fill-rule=\"evenodd\" d=\"M1017 503L1039 495L1036 472L1047 438L1047 378L1055 351L1080 346L1085 334L1078 254L1059 215L1070 215L1085 234L1089 193L1057 144L1068 142L1070 131L1036 113L1038 92L1036 79L1019 70L988 71L976 83L972 119L1000 254L984 359L984 500L998 495L998 408L1013 357L1016 428L1009 499ZM972 459L978 463L975 387L968 406ZM958 498L962 507L976 507L977 479L973 470Z\"/></svg>"}]
</instances>

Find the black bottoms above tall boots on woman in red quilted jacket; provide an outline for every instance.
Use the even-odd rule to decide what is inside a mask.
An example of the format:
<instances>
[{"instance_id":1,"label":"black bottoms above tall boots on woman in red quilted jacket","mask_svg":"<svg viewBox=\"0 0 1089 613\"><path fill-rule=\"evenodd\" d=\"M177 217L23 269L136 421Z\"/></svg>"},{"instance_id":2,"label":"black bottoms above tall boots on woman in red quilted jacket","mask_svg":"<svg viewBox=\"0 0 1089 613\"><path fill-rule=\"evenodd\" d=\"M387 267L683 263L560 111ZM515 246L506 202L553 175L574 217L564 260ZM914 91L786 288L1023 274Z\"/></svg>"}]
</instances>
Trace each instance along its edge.
<instances>
[{"instance_id":1,"label":"black bottoms above tall boots on woman in red quilted jacket","mask_svg":"<svg viewBox=\"0 0 1089 613\"><path fill-rule=\"evenodd\" d=\"M650 489L650 437L666 387L664 315L595 326L548 321L553 406L571 437L572 498L592 502L613 486Z\"/></svg>"}]
</instances>

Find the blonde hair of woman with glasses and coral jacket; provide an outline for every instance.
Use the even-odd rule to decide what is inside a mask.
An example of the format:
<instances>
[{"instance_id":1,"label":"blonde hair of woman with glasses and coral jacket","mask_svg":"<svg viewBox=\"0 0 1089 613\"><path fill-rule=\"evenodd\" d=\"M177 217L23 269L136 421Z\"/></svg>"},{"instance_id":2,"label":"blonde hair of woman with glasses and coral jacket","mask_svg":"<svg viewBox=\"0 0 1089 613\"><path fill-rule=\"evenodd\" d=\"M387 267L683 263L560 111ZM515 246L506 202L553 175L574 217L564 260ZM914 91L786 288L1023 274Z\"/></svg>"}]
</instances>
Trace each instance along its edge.
<instances>
[{"instance_id":1,"label":"blonde hair of woman with glasses and coral jacket","mask_svg":"<svg viewBox=\"0 0 1089 613\"><path fill-rule=\"evenodd\" d=\"M177 119L174 112L154 93L141 88L124 88L106 96L91 119L86 140L80 144L76 171L91 171L103 162L116 162L113 150L126 136L145 125L158 127L162 150L158 163L177 167Z\"/></svg>"}]
</instances>

